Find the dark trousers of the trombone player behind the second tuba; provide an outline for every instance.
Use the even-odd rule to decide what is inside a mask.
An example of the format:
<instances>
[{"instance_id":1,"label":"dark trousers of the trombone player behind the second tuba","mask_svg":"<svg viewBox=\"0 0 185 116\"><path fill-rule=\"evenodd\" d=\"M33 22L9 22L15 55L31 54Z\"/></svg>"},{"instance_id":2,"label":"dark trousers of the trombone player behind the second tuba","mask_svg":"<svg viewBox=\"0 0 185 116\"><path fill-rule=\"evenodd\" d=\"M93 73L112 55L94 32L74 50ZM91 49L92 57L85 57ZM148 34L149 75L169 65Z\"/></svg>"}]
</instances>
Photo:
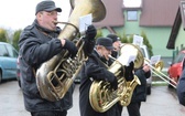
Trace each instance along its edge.
<instances>
[{"instance_id":1,"label":"dark trousers of the trombone player behind the second tuba","mask_svg":"<svg viewBox=\"0 0 185 116\"><path fill-rule=\"evenodd\" d=\"M129 116L141 116L141 114L140 114L140 106L141 106L141 102L130 103L127 106Z\"/></svg>"}]
</instances>

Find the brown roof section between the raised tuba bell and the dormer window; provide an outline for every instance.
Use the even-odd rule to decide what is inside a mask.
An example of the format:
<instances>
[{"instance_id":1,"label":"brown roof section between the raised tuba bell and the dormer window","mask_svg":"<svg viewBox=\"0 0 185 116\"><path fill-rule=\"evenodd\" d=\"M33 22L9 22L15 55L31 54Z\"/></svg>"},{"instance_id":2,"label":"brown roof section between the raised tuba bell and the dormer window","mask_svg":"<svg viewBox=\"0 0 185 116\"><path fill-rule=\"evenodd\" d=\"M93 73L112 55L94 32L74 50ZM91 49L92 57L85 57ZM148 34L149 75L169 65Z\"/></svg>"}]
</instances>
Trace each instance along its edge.
<instances>
[{"instance_id":1,"label":"brown roof section between the raised tuba bell and the dormer window","mask_svg":"<svg viewBox=\"0 0 185 116\"><path fill-rule=\"evenodd\" d=\"M106 7L107 13L102 21L94 23L95 27L121 27L124 24L122 0L101 0Z\"/></svg>"}]
</instances>

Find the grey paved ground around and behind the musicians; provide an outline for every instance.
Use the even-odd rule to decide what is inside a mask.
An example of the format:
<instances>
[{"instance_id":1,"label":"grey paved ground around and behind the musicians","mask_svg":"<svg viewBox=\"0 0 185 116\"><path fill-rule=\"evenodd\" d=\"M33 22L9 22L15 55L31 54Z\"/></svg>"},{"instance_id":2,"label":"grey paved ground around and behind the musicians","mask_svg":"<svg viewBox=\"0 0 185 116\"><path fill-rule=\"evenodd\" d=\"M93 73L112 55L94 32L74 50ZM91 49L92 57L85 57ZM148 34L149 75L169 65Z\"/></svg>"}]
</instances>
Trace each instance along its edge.
<instances>
[{"instance_id":1,"label":"grey paved ground around and behind the musicians","mask_svg":"<svg viewBox=\"0 0 185 116\"><path fill-rule=\"evenodd\" d=\"M78 92L76 85L74 92L74 106L68 110L67 116L79 116ZM152 94L148 101L142 103L142 116L185 116L185 107L178 104L174 89L167 86L152 86ZM22 92L17 81L0 84L0 116L30 116L24 109ZM128 116L127 108L123 108L122 116Z\"/></svg>"}]
</instances>

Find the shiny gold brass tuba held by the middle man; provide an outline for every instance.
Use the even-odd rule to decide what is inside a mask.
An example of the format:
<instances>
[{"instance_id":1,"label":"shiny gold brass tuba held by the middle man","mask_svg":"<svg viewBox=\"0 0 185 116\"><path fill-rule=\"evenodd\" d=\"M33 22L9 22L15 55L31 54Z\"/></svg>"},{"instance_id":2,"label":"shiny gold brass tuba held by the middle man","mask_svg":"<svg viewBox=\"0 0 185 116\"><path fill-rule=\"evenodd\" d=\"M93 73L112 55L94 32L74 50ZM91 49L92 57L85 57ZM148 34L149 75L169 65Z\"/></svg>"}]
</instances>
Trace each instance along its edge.
<instances>
[{"instance_id":1,"label":"shiny gold brass tuba held by the middle man","mask_svg":"<svg viewBox=\"0 0 185 116\"><path fill-rule=\"evenodd\" d=\"M122 106L130 103L134 87L140 84L138 76L131 82L127 82L123 77L124 65L129 56L137 56L134 60L134 68L142 66L144 59L143 54L137 45L123 44L121 46L121 55L108 67L108 71L115 74L118 80L118 89L110 88L110 83L105 81L94 81L90 86L89 101L91 107L96 112L104 113L112 107L117 102Z\"/></svg>"}]
</instances>

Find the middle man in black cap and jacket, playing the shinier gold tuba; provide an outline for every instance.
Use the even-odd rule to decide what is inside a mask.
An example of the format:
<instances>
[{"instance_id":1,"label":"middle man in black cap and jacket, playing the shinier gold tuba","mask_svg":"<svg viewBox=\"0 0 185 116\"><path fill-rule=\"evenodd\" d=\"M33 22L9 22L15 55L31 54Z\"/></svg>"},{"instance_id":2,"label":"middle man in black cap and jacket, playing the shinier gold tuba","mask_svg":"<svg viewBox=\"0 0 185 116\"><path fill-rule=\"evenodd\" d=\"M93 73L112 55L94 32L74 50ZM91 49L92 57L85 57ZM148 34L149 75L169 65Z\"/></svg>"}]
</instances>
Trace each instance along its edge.
<instances>
[{"instance_id":1,"label":"middle man in black cap and jacket, playing the shinier gold tuba","mask_svg":"<svg viewBox=\"0 0 185 116\"><path fill-rule=\"evenodd\" d=\"M89 54L88 61L81 68L79 87L80 116L119 116L117 104L105 113L98 113L91 107L89 102L89 89L94 81L107 81L112 88L117 89L118 87L117 77L106 66L109 65L109 55L112 50L113 46L110 39L98 38L92 54Z\"/></svg>"}]
</instances>

